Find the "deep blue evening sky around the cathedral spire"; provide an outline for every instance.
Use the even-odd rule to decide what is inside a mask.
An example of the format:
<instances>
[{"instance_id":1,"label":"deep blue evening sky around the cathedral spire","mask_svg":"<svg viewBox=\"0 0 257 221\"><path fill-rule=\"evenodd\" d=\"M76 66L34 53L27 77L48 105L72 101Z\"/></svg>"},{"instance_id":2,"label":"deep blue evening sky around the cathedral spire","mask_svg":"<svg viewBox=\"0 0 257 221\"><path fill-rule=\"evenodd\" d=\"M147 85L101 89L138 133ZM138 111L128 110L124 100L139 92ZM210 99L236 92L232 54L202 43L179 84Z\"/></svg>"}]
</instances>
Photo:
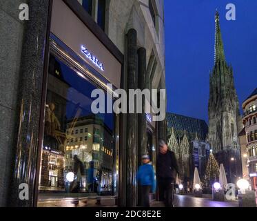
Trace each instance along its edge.
<instances>
[{"instance_id":1,"label":"deep blue evening sky around the cathedral spire","mask_svg":"<svg viewBox=\"0 0 257 221\"><path fill-rule=\"evenodd\" d=\"M214 66L214 15L220 12L225 57L234 68L240 106L257 87L256 0L164 0L167 111L208 120ZM227 21L227 3L236 21Z\"/></svg>"}]
</instances>

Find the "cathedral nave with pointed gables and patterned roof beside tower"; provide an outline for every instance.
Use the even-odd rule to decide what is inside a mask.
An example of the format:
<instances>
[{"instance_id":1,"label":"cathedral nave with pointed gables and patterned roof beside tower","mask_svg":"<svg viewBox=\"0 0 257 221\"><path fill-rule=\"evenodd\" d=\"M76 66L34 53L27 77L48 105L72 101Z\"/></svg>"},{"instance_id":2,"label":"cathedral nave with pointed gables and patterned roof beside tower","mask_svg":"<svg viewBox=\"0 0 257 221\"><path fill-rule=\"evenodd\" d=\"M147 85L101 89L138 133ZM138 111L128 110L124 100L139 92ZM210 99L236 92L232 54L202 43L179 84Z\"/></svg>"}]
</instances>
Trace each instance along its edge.
<instances>
[{"instance_id":1,"label":"cathedral nave with pointed gables and patterned roof beside tower","mask_svg":"<svg viewBox=\"0 0 257 221\"><path fill-rule=\"evenodd\" d=\"M206 122L174 113L167 113L166 118L168 146L176 155L184 182L193 180L195 167L203 176L209 157Z\"/></svg>"}]
</instances>

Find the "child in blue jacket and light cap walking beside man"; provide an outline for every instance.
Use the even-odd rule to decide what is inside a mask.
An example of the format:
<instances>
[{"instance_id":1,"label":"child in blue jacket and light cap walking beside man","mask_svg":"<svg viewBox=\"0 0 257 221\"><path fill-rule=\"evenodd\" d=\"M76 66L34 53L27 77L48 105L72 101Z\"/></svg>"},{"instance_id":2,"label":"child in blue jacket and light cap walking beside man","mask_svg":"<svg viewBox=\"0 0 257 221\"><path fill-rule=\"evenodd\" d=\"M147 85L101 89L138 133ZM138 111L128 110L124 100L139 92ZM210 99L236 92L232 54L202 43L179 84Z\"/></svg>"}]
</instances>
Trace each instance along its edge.
<instances>
[{"instance_id":1,"label":"child in blue jacket and light cap walking beside man","mask_svg":"<svg viewBox=\"0 0 257 221\"><path fill-rule=\"evenodd\" d=\"M143 165L139 166L137 173L138 184L141 186L141 205L150 207L149 194L155 191L154 168L148 155L142 157Z\"/></svg>"}]
</instances>

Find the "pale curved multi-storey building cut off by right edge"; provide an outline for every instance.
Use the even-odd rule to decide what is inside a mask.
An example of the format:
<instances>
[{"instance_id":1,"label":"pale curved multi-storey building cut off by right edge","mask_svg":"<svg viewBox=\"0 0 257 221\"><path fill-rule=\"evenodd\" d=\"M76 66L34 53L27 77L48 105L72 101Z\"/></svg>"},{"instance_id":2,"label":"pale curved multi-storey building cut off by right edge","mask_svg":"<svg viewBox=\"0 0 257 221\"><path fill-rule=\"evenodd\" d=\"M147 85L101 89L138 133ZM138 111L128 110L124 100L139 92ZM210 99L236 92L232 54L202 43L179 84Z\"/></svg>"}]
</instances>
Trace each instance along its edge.
<instances>
[{"instance_id":1,"label":"pale curved multi-storey building cut off by right edge","mask_svg":"<svg viewBox=\"0 0 257 221\"><path fill-rule=\"evenodd\" d=\"M243 102L243 124L245 126L245 148L251 188L257 189L257 88Z\"/></svg>"}]
</instances>

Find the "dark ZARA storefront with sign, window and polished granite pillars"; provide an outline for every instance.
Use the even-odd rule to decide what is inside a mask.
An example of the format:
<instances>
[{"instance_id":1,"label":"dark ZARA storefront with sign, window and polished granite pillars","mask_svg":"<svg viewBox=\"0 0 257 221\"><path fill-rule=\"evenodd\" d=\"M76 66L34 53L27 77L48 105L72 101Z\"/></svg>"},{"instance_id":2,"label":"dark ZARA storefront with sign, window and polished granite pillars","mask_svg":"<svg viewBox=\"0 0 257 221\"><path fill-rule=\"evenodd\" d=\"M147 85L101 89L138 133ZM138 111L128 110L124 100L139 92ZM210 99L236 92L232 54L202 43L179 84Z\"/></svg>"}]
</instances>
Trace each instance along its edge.
<instances>
[{"instance_id":1,"label":"dark ZARA storefront with sign, window and polished granite pillars","mask_svg":"<svg viewBox=\"0 0 257 221\"><path fill-rule=\"evenodd\" d=\"M74 155L85 166L85 195L94 192L93 168L97 196L105 192L119 206L136 206L141 155L155 160L165 122L145 114L94 115L89 108L92 90L107 93L107 84L145 88L146 52L136 30L127 32L123 55L77 1L31 1L30 18L8 206L37 206L43 193L66 193ZM20 184L28 184L28 200L19 198Z\"/></svg>"}]
</instances>

